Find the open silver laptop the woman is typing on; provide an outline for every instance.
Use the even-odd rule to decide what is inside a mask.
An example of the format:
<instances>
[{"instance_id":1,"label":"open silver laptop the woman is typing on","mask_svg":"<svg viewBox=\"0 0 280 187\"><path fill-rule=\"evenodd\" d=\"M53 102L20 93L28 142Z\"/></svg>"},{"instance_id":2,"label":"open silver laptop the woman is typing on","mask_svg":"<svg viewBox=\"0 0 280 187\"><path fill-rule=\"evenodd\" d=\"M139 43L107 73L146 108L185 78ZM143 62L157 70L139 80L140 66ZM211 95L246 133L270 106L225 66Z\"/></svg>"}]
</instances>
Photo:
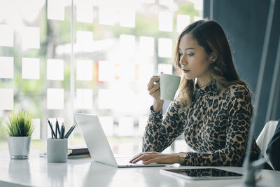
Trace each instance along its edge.
<instances>
[{"instance_id":1,"label":"open silver laptop the woman is typing on","mask_svg":"<svg viewBox=\"0 0 280 187\"><path fill-rule=\"evenodd\" d=\"M88 151L95 162L100 162L113 167L152 167L167 164L153 163L144 165L141 162L130 163L131 158L114 157L109 142L102 130L97 116L86 113L73 113L76 123L80 127Z\"/></svg>"}]
</instances>

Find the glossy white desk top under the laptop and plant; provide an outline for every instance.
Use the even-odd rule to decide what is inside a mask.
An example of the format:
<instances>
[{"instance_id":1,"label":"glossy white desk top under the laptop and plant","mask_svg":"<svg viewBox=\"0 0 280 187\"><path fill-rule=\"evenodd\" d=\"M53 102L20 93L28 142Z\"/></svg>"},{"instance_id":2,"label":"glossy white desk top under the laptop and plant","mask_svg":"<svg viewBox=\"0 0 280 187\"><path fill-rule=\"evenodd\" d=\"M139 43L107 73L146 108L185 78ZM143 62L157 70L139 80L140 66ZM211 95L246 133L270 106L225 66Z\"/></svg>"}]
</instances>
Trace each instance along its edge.
<instances>
[{"instance_id":1,"label":"glossy white desk top under the laptop and plant","mask_svg":"<svg viewBox=\"0 0 280 187\"><path fill-rule=\"evenodd\" d=\"M179 167L173 165L172 167ZM0 186L230 186L241 179L190 181L160 174L164 167L114 168L90 158L69 159L65 163L48 163L38 152L31 151L29 160L10 160L8 152L0 152ZM187 168L187 167L182 167ZM217 167L219 168L219 167ZM240 167L222 167L242 172ZM261 186L280 186L280 172L263 169Z\"/></svg>"}]
</instances>

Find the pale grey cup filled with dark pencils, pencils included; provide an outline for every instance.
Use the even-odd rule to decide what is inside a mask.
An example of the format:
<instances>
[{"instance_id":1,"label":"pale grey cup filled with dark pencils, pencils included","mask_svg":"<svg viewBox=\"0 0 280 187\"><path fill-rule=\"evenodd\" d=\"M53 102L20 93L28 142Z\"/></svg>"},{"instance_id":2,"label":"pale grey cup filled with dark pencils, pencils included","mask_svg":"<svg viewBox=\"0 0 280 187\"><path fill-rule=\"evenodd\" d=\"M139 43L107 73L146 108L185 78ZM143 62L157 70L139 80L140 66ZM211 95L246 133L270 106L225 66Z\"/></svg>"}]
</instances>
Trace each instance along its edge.
<instances>
[{"instance_id":1,"label":"pale grey cup filled with dark pencils, pencils included","mask_svg":"<svg viewBox=\"0 0 280 187\"><path fill-rule=\"evenodd\" d=\"M59 127L59 123L56 120L55 130L50 120L48 120L48 125L52 133L52 138L47 139L48 162L67 162L67 141L76 125L73 125L66 134L64 123Z\"/></svg>"}]
</instances>

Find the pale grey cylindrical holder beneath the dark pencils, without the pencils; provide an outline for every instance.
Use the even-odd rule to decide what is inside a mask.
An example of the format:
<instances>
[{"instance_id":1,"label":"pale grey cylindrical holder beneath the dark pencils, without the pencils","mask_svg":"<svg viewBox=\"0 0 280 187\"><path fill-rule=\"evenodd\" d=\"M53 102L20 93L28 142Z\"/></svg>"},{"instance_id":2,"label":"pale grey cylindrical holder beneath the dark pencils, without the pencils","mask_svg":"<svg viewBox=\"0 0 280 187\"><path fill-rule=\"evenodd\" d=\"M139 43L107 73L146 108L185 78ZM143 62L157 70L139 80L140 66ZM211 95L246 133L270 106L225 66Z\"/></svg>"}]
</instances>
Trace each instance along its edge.
<instances>
[{"instance_id":1,"label":"pale grey cylindrical holder beneath the dark pencils, without the pencils","mask_svg":"<svg viewBox=\"0 0 280 187\"><path fill-rule=\"evenodd\" d=\"M48 162L67 162L67 139L47 139Z\"/></svg>"}]
</instances>

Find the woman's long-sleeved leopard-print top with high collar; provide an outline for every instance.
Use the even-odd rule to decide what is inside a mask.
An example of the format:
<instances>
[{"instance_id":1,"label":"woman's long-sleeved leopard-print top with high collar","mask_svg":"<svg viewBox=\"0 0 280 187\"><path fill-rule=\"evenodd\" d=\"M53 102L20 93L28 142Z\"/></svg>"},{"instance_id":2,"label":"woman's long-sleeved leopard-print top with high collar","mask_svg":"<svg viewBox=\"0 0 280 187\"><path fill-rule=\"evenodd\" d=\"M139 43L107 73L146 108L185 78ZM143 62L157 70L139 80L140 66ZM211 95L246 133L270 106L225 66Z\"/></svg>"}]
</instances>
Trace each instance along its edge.
<instances>
[{"instance_id":1,"label":"woman's long-sleeved leopard-print top with high collar","mask_svg":"<svg viewBox=\"0 0 280 187\"><path fill-rule=\"evenodd\" d=\"M154 112L151 107L142 151L162 152L184 133L195 152L187 153L183 165L241 166L251 114L251 96L245 85L230 85L223 91L214 81L203 88L195 85L190 106L183 106L176 97L163 119L162 111ZM253 140L251 156L258 158L259 153Z\"/></svg>"}]
</instances>

